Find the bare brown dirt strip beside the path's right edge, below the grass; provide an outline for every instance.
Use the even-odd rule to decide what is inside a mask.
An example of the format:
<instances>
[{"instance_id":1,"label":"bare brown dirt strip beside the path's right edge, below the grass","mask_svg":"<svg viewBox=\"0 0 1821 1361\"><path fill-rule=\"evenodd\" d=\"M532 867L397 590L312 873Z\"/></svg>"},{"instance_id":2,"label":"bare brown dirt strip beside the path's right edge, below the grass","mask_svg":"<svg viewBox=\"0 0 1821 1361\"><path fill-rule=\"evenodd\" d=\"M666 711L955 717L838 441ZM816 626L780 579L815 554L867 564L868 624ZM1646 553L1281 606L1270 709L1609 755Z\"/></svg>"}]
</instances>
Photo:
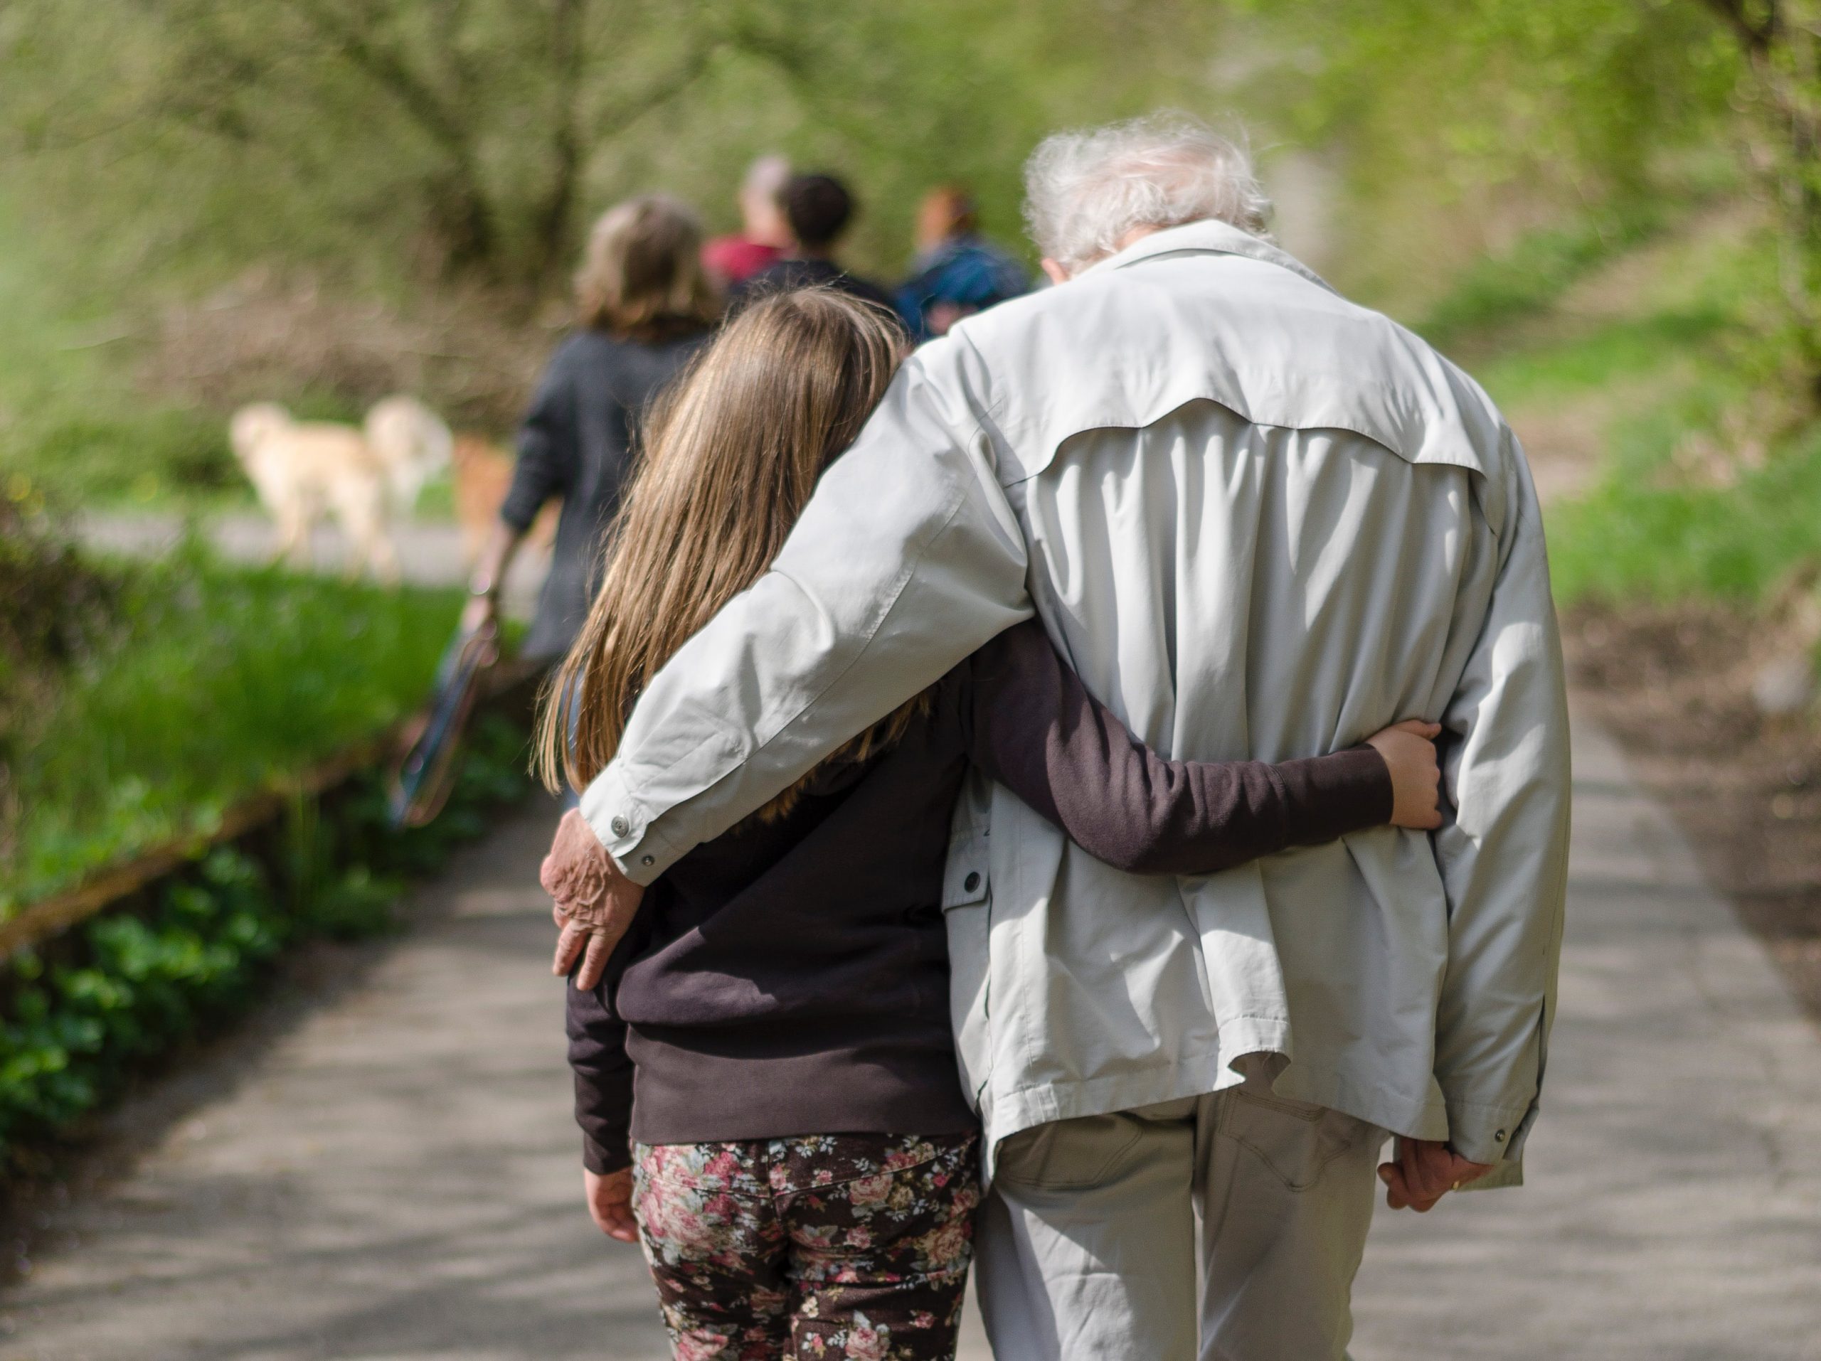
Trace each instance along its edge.
<instances>
[{"instance_id":1,"label":"bare brown dirt strip beside the path's right edge, below the grass","mask_svg":"<svg viewBox=\"0 0 1821 1361\"><path fill-rule=\"evenodd\" d=\"M1752 675L1775 619L1714 604L1577 608L1562 620L1581 708L1621 742L1714 888L1821 1019L1821 722L1765 719Z\"/></svg>"}]
</instances>

